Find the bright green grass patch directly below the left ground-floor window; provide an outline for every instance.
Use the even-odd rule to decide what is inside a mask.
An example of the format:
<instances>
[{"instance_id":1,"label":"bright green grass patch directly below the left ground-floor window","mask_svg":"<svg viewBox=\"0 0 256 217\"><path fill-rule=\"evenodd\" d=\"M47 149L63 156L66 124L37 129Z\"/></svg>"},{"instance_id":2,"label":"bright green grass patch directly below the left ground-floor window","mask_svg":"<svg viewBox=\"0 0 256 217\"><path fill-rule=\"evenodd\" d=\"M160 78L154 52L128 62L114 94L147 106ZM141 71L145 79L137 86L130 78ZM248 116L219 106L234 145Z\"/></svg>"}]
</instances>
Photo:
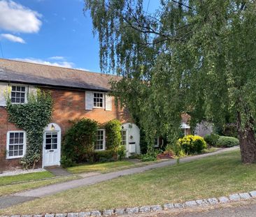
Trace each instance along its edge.
<instances>
[{"instance_id":1,"label":"bright green grass patch directly below the left ground-floor window","mask_svg":"<svg viewBox=\"0 0 256 217\"><path fill-rule=\"evenodd\" d=\"M51 177L55 177L55 175L48 171L31 172L27 174L18 174L15 176L0 177L0 186L15 183L15 182L31 181L31 180L45 179L45 178L51 178Z\"/></svg>"}]
</instances>

